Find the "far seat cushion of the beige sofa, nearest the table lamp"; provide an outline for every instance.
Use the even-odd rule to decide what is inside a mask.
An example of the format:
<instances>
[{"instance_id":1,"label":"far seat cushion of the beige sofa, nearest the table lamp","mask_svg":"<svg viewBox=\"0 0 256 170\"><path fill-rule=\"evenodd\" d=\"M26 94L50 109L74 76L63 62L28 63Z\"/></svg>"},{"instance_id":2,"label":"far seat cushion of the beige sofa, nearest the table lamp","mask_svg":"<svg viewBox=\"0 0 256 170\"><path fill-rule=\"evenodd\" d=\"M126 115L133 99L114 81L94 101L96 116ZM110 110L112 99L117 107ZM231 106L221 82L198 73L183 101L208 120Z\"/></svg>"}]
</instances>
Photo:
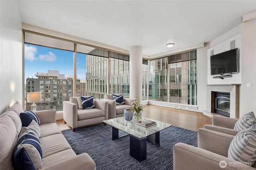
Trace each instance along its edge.
<instances>
[{"instance_id":1,"label":"far seat cushion of the beige sofa, nearest the table lamp","mask_svg":"<svg viewBox=\"0 0 256 170\"><path fill-rule=\"evenodd\" d=\"M56 123L40 124L39 127L41 131L40 137L46 137L46 136L55 135L55 134L62 134L60 131L60 128Z\"/></svg>"}]
</instances>

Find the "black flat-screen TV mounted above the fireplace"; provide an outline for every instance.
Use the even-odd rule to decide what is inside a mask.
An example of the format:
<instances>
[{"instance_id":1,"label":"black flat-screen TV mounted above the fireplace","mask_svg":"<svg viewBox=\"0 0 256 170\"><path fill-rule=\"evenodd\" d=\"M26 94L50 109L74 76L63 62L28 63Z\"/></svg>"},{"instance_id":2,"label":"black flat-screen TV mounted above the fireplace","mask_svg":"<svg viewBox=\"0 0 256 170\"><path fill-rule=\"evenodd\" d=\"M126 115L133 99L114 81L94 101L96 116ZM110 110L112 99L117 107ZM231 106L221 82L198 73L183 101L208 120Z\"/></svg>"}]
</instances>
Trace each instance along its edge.
<instances>
[{"instance_id":1,"label":"black flat-screen TV mounted above the fireplace","mask_svg":"<svg viewBox=\"0 0 256 170\"><path fill-rule=\"evenodd\" d=\"M238 73L238 49L232 49L210 57L211 75Z\"/></svg>"}]
</instances>

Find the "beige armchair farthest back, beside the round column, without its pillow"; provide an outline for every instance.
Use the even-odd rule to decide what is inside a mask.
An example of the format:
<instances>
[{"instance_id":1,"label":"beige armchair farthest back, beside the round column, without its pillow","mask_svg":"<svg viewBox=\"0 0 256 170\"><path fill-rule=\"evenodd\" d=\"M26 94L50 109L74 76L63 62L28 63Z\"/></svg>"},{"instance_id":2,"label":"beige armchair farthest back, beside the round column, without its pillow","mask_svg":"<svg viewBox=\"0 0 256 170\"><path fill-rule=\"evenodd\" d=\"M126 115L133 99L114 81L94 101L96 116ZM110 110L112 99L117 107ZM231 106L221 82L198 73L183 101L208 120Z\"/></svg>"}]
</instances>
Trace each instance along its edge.
<instances>
[{"instance_id":1,"label":"beige armchair farthest back, beside the round column, without its pillow","mask_svg":"<svg viewBox=\"0 0 256 170\"><path fill-rule=\"evenodd\" d=\"M132 102L136 99L124 98L124 104L116 105L116 101L113 100L112 94L106 94L103 101L108 101L108 119L124 116L124 109L132 108Z\"/></svg>"}]
</instances>

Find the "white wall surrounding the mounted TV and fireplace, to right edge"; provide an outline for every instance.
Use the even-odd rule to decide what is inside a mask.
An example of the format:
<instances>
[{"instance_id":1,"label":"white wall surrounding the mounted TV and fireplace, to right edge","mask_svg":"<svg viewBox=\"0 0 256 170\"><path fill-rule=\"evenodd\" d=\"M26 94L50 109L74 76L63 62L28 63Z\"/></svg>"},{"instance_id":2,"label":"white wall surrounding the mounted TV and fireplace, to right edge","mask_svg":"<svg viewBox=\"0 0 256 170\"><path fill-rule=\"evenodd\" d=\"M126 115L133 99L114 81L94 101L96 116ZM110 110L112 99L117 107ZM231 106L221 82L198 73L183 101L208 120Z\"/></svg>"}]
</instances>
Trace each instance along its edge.
<instances>
[{"instance_id":1,"label":"white wall surrounding the mounted TV and fireplace, to right edge","mask_svg":"<svg viewBox=\"0 0 256 170\"><path fill-rule=\"evenodd\" d=\"M255 14L255 13L254 13ZM238 83L240 86L239 117L244 113L253 111L256 113L256 16L241 23L220 37L212 40L206 47L197 49L197 73L198 73L198 111L206 109L206 84L232 84ZM232 39L236 39L236 47L240 49L240 73L235 77L226 78L226 81L213 80L210 76L207 60L210 50L214 49L214 54L229 50ZM247 88L247 83L252 87Z\"/></svg>"}]
</instances>

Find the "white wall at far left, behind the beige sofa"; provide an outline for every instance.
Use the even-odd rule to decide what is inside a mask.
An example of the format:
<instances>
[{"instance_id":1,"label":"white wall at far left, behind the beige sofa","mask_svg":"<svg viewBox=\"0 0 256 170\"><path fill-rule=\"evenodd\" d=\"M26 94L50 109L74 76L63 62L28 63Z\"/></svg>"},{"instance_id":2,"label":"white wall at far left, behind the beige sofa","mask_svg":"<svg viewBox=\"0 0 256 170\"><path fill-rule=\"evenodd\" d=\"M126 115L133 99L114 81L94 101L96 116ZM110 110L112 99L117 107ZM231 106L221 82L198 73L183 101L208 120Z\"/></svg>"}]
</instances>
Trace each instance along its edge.
<instances>
[{"instance_id":1,"label":"white wall at far left, behind the beige sofa","mask_svg":"<svg viewBox=\"0 0 256 170\"><path fill-rule=\"evenodd\" d=\"M19 1L0 1L0 114L22 104L22 21Z\"/></svg>"}]
</instances>

